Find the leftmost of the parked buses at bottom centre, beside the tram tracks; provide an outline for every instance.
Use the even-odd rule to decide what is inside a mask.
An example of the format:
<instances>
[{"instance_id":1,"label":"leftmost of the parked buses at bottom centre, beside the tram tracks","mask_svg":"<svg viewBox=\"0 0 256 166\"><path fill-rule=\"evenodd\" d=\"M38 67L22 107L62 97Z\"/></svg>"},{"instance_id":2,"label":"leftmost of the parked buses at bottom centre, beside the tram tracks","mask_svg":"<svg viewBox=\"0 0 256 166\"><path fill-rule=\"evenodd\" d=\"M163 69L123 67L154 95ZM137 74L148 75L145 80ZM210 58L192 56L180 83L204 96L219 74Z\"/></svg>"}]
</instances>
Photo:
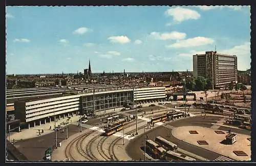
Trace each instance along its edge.
<instances>
[{"instance_id":1,"label":"leftmost of the parked buses at bottom centre, beside the tram tracks","mask_svg":"<svg viewBox=\"0 0 256 166\"><path fill-rule=\"evenodd\" d=\"M166 152L164 148L160 147L152 140L146 140L146 148L150 150L152 154L155 154L155 159L162 158Z\"/></svg>"}]
</instances>

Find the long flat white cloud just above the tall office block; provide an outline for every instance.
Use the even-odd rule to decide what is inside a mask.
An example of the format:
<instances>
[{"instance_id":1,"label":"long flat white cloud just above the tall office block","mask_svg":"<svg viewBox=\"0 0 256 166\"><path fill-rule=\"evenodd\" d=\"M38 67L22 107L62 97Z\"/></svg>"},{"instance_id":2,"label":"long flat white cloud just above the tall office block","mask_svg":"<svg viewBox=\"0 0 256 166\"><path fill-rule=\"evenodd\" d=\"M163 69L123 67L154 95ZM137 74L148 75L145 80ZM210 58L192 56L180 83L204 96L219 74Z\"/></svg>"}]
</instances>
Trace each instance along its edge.
<instances>
[{"instance_id":1,"label":"long flat white cloud just above the tall office block","mask_svg":"<svg viewBox=\"0 0 256 166\"><path fill-rule=\"evenodd\" d=\"M186 40L177 41L174 44L170 44L167 47L182 48L182 47L195 47L214 43L214 39L206 37L195 37Z\"/></svg>"}]
</instances>

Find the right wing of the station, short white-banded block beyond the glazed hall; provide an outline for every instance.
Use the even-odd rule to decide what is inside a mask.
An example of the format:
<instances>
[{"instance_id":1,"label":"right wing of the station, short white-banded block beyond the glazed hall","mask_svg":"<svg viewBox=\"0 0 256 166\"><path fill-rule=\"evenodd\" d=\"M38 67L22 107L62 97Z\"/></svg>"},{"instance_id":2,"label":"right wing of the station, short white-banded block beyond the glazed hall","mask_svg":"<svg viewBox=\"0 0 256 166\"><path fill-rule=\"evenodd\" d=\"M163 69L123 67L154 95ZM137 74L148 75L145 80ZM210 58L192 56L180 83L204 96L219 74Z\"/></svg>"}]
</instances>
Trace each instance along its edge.
<instances>
[{"instance_id":1,"label":"right wing of the station, short white-banded block beyond the glazed hall","mask_svg":"<svg viewBox=\"0 0 256 166\"><path fill-rule=\"evenodd\" d=\"M165 87L135 88L134 101L137 103L160 102L166 98Z\"/></svg>"}]
</instances>

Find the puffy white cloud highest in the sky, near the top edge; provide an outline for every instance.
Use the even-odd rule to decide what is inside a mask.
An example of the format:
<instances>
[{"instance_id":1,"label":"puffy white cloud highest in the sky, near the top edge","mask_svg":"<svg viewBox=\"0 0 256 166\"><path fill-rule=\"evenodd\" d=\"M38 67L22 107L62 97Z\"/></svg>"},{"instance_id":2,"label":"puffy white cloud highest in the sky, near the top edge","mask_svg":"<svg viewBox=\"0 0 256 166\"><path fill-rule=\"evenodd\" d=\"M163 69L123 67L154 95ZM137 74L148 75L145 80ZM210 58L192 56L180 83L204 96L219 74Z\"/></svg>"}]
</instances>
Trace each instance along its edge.
<instances>
[{"instance_id":1,"label":"puffy white cloud highest in the sky, near the top edge","mask_svg":"<svg viewBox=\"0 0 256 166\"><path fill-rule=\"evenodd\" d=\"M197 11L182 7L170 8L165 11L165 14L167 16L173 16L173 20L177 22L182 22L189 19L199 19L201 17Z\"/></svg>"}]
</instances>

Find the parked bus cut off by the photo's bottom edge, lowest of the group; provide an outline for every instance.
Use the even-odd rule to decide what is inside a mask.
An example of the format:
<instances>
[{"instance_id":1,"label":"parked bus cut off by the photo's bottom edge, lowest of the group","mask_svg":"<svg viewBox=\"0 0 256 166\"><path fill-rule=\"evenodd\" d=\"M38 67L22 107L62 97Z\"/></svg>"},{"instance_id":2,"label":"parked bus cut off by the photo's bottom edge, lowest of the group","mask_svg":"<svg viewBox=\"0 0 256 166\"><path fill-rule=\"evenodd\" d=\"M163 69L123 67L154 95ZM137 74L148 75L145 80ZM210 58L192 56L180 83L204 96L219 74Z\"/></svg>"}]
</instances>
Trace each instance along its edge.
<instances>
[{"instance_id":1,"label":"parked bus cut off by the photo's bottom edge, lowest of the group","mask_svg":"<svg viewBox=\"0 0 256 166\"><path fill-rule=\"evenodd\" d=\"M169 161L196 161L195 158L188 157L184 154L174 151L167 151L164 155L164 159Z\"/></svg>"}]
</instances>

